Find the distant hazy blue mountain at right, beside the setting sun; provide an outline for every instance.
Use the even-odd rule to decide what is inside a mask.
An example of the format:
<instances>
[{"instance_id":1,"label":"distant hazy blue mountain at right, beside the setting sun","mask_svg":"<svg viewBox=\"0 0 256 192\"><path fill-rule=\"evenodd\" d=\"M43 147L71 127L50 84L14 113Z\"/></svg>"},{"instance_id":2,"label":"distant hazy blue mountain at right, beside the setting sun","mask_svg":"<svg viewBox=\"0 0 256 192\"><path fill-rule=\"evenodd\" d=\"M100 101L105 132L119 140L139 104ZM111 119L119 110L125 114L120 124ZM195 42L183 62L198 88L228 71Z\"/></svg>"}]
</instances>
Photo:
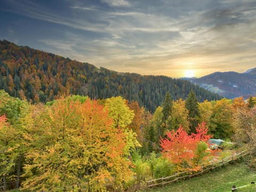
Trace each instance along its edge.
<instances>
[{"instance_id":1,"label":"distant hazy blue mountain at right, beside the setting sun","mask_svg":"<svg viewBox=\"0 0 256 192\"><path fill-rule=\"evenodd\" d=\"M247 99L250 95L256 94L256 68L249 69L244 73L234 71L216 72L201 78L190 78L188 80L230 99L241 96Z\"/></svg>"}]
</instances>

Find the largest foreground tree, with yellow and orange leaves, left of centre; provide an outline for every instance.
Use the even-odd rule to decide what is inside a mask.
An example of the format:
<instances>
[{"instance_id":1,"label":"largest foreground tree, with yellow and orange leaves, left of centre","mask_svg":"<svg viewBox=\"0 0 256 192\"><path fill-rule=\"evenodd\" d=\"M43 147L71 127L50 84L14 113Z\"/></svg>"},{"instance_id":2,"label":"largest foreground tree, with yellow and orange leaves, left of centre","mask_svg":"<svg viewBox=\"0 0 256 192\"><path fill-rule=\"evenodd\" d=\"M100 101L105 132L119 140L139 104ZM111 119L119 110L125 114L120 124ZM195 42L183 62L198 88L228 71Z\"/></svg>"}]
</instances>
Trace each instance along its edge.
<instances>
[{"instance_id":1,"label":"largest foreground tree, with yellow and orange leaves, left of centre","mask_svg":"<svg viewBox=\"0 0 256 192\"><path fill-rule=\"evenodd\" d=\"M30 118L33 117L33 118ZM122 188L130 179L131 162L124 154L126 134L112 126L97 101L61 98L36 109L26 126L30 150L23 188L30 190L104 190L106 182Z\"/></svg>"}]
</instances>

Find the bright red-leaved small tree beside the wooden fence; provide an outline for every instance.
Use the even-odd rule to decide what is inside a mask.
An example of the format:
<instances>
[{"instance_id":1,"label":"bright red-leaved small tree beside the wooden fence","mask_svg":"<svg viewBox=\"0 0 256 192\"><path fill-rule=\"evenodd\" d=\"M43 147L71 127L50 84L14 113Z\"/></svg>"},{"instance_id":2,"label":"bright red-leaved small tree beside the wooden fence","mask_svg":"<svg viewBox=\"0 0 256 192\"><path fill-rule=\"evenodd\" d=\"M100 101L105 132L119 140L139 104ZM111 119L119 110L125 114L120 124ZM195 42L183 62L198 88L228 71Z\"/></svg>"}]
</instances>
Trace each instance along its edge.
<instances>
[{"instance_id":1,"label":"bright red-leaved small tree beside the wooden fence","mask_svg":"<svg viewBox=\"0 0 256 192\"><path fill-rule=\"evenodd\" d=\"M211 138L211 135L207 135L207 131L205 123L202 123L196 127L196 133L191 135L184 131L182 126L177 131L167 132L167 137L161 138L160 143L163 156L174 163L178 171L198 170L199 162L211 155L206 147L201 150L201 153L198 153L202 142L206 145L206 141Z\"/></svg>"}]
</instances>

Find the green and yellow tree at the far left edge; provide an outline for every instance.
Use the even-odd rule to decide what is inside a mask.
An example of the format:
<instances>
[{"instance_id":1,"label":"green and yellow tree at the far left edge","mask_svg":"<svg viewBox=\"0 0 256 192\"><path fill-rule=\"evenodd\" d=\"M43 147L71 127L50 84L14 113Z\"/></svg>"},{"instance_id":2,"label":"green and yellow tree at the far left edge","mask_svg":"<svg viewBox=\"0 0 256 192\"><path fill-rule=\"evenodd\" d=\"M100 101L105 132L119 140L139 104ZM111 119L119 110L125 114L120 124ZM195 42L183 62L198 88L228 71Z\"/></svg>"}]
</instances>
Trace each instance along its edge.
<instances>
[{"instance_id":1,"label":"green and yellow tree at the far left edge","mask_svg":"<svg viewBox=\"0 0 256 192\"><path fill-rule=\"evenodd\" d=\"M23 145L21 118L26 114L27 108L28 103L25 101L0 91L0 116L6 117L0 130L0 178L9 183L5 188L20 186L23 153L26 150Z\"/></svg>"}]
</instances>

